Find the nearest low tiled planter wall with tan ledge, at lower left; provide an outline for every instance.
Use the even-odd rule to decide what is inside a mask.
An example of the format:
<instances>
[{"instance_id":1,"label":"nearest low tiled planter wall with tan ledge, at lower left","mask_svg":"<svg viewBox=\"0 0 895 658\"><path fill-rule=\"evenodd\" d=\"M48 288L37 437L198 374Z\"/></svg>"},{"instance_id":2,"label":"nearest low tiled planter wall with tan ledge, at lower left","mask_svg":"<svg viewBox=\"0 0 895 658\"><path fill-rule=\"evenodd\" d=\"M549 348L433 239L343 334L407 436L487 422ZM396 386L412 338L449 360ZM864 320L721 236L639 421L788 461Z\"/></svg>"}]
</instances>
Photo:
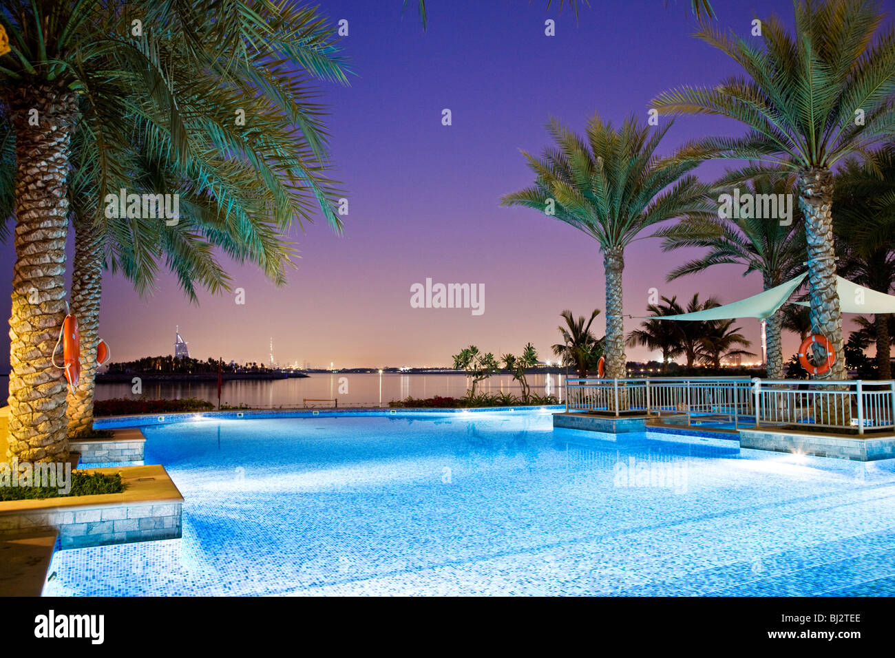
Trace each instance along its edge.
<instances>
[{"instance_id":1,"label":"nearest low tiled planter wall with tan ledge, at lower left","mask_svg":"<svg viewBox=\"0 0 895 658\"><path fill-rule=\"evenodd\" d=\"M59 533L63 549L181 536L183 497L162 466L97 468L122 473L124 493L0 502L0 532Z\"/></svg>"}]
</instances>

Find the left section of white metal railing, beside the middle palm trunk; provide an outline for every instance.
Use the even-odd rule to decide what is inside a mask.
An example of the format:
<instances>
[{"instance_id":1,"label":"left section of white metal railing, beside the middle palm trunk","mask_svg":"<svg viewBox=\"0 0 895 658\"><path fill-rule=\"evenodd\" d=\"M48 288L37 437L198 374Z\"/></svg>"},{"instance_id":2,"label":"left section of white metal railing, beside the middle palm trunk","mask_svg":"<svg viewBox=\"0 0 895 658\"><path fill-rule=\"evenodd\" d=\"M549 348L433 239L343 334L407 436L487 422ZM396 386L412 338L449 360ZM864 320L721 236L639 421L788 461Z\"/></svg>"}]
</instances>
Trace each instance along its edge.
<instances>
[{"instance_id":1,"label":"left section of white metal railing, beside the middle palm trunk","mask_svg":"<svg viewBox=\"0 0 895 658\"><path fill-rule=\"evenodd\" d=\"M753 381L745 377L647 377L566 380L566 411L729 416L735 427L754 413Z\"/></svg>"}]
</instances>

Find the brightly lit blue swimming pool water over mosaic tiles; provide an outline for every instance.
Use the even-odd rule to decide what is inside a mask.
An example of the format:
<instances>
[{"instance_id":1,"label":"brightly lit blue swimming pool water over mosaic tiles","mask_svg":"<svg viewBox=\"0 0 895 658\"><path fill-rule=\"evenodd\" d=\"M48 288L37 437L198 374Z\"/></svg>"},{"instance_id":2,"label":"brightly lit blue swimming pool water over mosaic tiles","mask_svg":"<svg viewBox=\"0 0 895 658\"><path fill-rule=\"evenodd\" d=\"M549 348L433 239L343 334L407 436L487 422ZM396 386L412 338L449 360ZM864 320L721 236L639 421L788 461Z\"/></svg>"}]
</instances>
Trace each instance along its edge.
<instances>
[{"instance_id":1,"label":"brightly lit blue swimming pool water over mosaic tiles","mask_svg":"<svg viewBox=\"0 0 895 658\"><path fill-rule=\"evenodd\" d=\"M145 433L183 539L59 551L45 594L895 594L895 460L538 412Z\"/></svg>"}]
</instances>

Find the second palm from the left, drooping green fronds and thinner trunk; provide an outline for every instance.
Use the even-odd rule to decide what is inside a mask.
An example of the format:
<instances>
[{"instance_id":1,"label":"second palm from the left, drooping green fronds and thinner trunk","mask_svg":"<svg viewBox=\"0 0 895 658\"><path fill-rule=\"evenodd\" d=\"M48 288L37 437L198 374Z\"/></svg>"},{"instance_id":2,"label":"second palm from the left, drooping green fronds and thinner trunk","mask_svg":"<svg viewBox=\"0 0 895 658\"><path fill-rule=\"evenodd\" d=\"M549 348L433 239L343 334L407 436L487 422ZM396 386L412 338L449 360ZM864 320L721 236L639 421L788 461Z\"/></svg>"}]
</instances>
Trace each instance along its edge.
<instances>
[{"instance_id":1,"label":"second palm from the left, drooping green fronds and thinner trunk","mask_svg":"<svg viewBox=\"0 0 895 658\"><path fill-rule=\"evenodd\" d=\"M304 16L309 21L312 16ZM292 26L294 31L297 26ZM290 34L277 33L268 38L268 46L285 50L272 42ZM318 49L311 42L309 50ZM330 54L320 50L321 57ZM98 344L98 315L101 292L102 263L119 269L134 283L141 295L153 286L158 265L164 254L183 292L193 303L198 302L196 286L214 294L230 290L230 279L217 263L212 246L226 252L234 261L257 264L276 285L286 281L285 268L292 264L294 250L283 239L291 222L297 218L301 226L309 220L311 203L303 199L307 186L290 181L309 179L324 185L318 167L309 161L311 144L322 144L320 126L315 119L316 107L298 94L253 95L244 98L243 80L270 76L268 62L259 53L241 62L239 78L223 82L216 75L197 76L195 67L176 49L162 49L159 59L166 65L166 80L172 88L189 90L178 100L186 119L190 137L188 157L169 157L168 142L158 133L166 118L166 107L158 107L153 98L132 98L139 112L127 117L109 117L103 130L122 134L98 135L85 126L83 137L75 141L79 165L72 185L75 256L72 271L72 312L81 326L81 380L68 395L69 433L89 432L92 425L94 374ZM170 61L168 61L170 60ZM294 62L297 64L297 62ZM334 63L338 65L338 62ZM227 84L227 82L230 82ZM251 141L244 130L220 122L218 117L230 115L238 105L251 116ZM303 131L295 131L294 117L303 117ZM137 121L134 121L139 117ZM117 119L117 120L115 120ZM208 131L207 126L217 126ZM115 159L127 162L128 181L104 180L114 175L98 166L99 154L115 151ZM248 158L234 161L222 157L228 152L243 152ZM284 157L286 156L286 157ZM107 159L111 155L107 154ZM124 168L124 167L119 167ZM170 191L181 196L181 219L176 230L169 230L158 220L141 218L95 218L102 207L98 190L135 188L140 192ZM335 230L341 225L336 216L322 204L324 215ZM157 253L158 252L158 253Z\"/></svg>"}]
</instances>

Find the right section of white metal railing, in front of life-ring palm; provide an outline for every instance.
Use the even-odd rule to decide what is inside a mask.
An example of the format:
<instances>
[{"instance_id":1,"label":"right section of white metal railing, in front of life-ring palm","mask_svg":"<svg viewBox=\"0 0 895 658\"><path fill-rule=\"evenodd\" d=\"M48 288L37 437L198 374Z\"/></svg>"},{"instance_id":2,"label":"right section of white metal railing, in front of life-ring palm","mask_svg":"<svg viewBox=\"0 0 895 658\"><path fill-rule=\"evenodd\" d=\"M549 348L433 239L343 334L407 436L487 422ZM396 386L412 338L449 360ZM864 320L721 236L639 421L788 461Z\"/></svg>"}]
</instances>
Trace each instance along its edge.
<instances>
[{"instance_id":1,"label":"right section of white metal railing, in front of life-ring palm","mask_svg":"<svg viewBox=\"0 0 895 658\"><path fill-rule=\"evenodd\" d=\"M895 380L753 380L761 423L865 430L895 428Z\"/></svg>"}]
</instances>

